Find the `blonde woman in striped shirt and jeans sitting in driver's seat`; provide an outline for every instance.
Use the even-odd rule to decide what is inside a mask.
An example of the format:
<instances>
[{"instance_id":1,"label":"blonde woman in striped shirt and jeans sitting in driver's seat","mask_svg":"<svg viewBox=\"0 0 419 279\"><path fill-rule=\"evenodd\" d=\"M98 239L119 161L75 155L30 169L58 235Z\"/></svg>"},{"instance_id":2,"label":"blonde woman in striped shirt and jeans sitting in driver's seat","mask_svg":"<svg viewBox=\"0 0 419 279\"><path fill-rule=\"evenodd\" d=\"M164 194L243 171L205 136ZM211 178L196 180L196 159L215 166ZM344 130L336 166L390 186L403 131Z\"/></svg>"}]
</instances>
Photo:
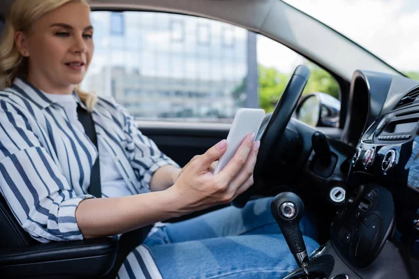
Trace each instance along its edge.
<instances>
[{"instance_id":1,"label":"blonde woman in striped shirt and jeans sitting in driver's seat","mask_svg":"<svg viewBox=\"0 0 419 279\"><path fill-rule=\"evenodd\" d=\"M180 169L123 107L78 89L94 50L89 13L84 0L16 0L10 8L0 45L0 189L22 227L41 242L115 236L247 190L260 144L254 135L219 174L212 169L225 140ZM97 149L78 107L92 112ZM101 198L87 194L96 158ZM295 264L270 200L154 227L119 278L285 276ZM307 224L304 234L313 231Z\"/></svg>"}]
</instances>

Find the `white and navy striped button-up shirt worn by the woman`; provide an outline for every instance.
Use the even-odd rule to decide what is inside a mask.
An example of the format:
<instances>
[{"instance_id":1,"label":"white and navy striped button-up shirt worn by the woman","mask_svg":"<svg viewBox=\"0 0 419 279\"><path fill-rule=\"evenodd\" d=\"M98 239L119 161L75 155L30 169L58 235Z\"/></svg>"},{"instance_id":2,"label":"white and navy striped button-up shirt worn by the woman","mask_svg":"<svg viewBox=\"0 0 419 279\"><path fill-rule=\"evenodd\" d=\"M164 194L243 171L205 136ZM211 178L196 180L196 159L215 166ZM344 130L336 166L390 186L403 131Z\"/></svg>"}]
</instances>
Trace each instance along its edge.
<instances>
[{"instance_id":1,"label":"white and navy striped button-up shirt worn by the woman","mask_svg":"<svg viewBox=\"0 0 419 279\"><path fill-rule=\"evenodd\" d=\"M99 97L92 117L98 141L132 195L150 191L159 167L177 166L112 98ZM0 91L0 119L0 190L20 225L41 242L82 239L75 209L93 197L87 189L96 146L64 107L23 79Z\"/></svg>"}]
</instances>

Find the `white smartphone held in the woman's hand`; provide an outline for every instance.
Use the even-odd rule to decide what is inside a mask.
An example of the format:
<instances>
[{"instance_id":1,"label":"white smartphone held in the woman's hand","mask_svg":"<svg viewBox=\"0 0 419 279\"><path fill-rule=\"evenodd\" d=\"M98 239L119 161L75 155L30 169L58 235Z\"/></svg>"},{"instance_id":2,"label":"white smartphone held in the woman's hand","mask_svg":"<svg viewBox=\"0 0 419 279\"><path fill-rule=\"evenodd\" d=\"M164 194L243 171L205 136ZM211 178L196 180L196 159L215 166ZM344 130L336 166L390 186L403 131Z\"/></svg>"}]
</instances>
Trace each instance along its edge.
<instances>
[{"instance_id":1,"label":"white smartphone held in the woman's hand","mask_svg":"<svg viewBox=\"0 0 419 279\"><path fill-rule=\"evenodd\" d=\"M214 174L220 172L223 167L226 167L237 149L239 149L246 135L249 133L255 133L257 135L264 116L265 111L260 109L242 108L237 110L230 131L228 132L226 153L219 159Z\"/></svg>"}]
</instances>

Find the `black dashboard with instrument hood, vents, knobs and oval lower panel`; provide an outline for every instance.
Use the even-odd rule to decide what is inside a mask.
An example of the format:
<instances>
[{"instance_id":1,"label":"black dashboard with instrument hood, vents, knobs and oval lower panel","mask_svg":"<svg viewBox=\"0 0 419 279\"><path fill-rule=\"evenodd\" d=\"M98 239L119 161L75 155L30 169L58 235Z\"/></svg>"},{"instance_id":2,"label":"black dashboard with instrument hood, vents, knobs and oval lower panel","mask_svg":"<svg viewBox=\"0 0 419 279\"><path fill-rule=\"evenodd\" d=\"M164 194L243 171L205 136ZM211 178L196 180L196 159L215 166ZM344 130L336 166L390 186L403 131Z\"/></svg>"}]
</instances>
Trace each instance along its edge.
<instances>
[{"instance_id":1,"label":"black dashboard with instrument hood, vents, knobs and oval lower panel","mask_svg":"<svg viewBox=\"0 0 419 279\"><path fill-rule=\"evenodd\" d=\"M356 151L330 236L360 272L389 239L402 236L412 247L419 240L418 97L419 82L406 77L357 71L351 82L343 138Z\"/></svg>"}]
</instances>

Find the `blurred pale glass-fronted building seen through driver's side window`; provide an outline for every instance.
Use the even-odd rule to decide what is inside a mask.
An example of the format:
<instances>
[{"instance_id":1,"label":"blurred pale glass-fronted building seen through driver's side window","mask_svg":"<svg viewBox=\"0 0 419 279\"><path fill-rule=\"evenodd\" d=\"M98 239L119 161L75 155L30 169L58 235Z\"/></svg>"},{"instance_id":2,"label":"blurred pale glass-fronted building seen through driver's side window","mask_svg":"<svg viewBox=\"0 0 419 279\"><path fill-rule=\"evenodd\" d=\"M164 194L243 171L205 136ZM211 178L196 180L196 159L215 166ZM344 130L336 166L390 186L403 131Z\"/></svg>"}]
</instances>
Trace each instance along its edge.
<instances>
[{"instance_id":1,"label":"blurred pale glass-fronted building seen through driver's side window","mask_svg":"<svg viewBox=\"0 0 419 279\"><path fill-rule=\"evenodd\" d=\"M134 116L232 118L258 107L256 34L152 12L93 12L94 59L82 84Z\"/></svg>"}]
</instances>

